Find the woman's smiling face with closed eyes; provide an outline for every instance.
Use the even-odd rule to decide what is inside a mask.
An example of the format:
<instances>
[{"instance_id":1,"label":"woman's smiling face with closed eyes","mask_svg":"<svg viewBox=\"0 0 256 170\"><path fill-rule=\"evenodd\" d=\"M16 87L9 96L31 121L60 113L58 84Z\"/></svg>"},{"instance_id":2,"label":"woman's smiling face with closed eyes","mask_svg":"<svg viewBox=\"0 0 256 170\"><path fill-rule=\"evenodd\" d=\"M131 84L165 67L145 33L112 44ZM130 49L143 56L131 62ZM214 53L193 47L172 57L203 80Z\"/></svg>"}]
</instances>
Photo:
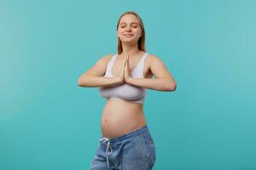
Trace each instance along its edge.
<instances>
[{"instance_id":1,"label":"woman's smiling face with closed eyes","mask_svg":"<svg viewBox=\"0 0 256 170\"><path fill-rule=\"evenodd\" d=\"M137 17L134 14L125 14L119 21L117 34L121 42L137 43L142 34Z\"/></svg>"}]
</instances>

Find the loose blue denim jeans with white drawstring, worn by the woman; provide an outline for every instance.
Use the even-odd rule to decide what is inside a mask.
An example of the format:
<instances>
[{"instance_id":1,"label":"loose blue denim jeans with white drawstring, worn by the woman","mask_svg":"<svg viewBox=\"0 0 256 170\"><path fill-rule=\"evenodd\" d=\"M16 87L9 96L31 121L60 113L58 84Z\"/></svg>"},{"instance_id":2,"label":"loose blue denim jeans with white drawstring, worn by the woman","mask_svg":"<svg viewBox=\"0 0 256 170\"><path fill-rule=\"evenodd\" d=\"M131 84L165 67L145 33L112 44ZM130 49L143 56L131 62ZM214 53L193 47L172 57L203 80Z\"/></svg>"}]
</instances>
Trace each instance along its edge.
<instances>
[{"instance_id":1,"label":"loose blue denim jeans with white drawstring, worn by the woman","mask_svg":"<svg viewBox=\"0 0 256 170\"><path fill-rule=\"evenodd\" d=\"M154 166L155 147L145 125L118 138L101 136L90 170L150 170Z\"/></svg>"}]
</instances>

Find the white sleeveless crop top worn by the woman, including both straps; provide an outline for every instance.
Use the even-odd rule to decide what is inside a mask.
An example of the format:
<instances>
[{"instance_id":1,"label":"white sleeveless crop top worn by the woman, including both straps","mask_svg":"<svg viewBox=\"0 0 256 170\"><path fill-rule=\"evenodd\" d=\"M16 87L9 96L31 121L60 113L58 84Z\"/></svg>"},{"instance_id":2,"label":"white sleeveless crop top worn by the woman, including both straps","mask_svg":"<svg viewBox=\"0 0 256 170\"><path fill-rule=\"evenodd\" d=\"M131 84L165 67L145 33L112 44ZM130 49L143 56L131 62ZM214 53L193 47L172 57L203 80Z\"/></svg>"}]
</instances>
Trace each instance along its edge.
<instances>
[{"instance_id":1,"label":"white sleeveless crop top worn by the woman, including both straps","mask_svg":"<svg viewBox=\"0 0 256 170\"><path fill-rule=\"evenodd\" d=\"M142 59L138 62L137 66L133 71L131 71L131 77L134 78L144 78L143 76L143 68L144 61L147 58L148 54L143 54ZM111 73L113 62L118 57L118 54L114 54L113 57L108 62L108 67L104 77L114 77ZM133 86L128 83L124 83L119 86L115 86L112 88L99 88L100 94L103 98L107 99L125 99L131 102L143 104L145 96L146 96L146 88L141 88L137 86Z\"/></svg>"}]
</instances>

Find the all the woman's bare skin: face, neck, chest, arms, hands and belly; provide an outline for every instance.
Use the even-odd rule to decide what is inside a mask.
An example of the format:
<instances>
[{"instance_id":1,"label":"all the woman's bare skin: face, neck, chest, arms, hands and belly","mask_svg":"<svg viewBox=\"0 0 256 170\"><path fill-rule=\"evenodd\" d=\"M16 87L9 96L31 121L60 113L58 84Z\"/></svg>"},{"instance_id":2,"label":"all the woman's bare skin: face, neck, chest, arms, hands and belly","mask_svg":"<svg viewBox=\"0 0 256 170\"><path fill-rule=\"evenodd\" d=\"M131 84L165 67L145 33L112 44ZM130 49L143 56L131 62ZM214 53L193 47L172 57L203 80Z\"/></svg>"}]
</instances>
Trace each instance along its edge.
<instances>
[{"instance_id":1,"label":"all the woman's bare skin: face, neck, chest, arms, hands and belly","mask_svg":"<svg viewBox=\"0 0 256 170\"><path fill-rule=\"evenodd\" d=\"M117 36L122 42L123 52L119 54L112 67L113 77L103 77L108 61L113 56L108 54L96 62L96 65L79 77L78 85L81 87L109 88L123 83L149 88L158 91L172 92L177 84L171 73L167 71L164 62L153 54L145 59L144 78L131 77L138 61L145 52L137 48L137 40L141 36L141 28L137 17L125 14L120 22ZM152 78L152 77L155 78ZM102 135L108 139L117 138L125 133L137 130L147 124L144 116L143 104L123 99L108 99L102 111Z\"/></svg>"}]
</instances>

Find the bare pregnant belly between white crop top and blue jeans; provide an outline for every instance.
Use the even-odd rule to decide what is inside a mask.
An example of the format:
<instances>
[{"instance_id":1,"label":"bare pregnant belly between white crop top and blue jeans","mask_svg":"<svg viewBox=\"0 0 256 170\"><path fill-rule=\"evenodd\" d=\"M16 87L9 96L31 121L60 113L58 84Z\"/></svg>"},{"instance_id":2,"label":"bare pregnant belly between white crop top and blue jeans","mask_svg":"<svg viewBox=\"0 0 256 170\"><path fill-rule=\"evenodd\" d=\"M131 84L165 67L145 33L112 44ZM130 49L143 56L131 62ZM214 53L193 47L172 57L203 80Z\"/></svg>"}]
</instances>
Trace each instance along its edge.
<instances>
[{"instance_id":1,"label":"bare pregnant belly between white crop top and blue jeans","mask_svg":"<svg viewBox=\"0 0 256 170\"><path fill-rule=\"evenodd\" d=\"M146 119L143 105L122 99L108 99L102 113L102 135L117 138L143 127Z\"/></svg>"}]
</instances>

